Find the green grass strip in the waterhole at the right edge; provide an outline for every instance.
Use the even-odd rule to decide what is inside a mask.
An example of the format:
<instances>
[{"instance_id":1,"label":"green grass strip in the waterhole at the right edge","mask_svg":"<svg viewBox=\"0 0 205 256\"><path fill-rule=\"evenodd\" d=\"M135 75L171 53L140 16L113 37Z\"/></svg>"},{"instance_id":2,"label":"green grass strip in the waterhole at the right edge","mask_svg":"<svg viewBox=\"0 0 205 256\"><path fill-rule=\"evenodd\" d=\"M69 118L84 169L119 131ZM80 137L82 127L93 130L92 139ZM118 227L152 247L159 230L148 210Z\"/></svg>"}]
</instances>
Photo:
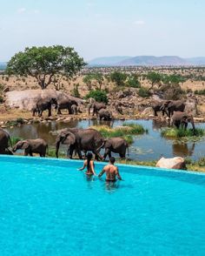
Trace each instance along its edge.
<instances>
[{"instance_id":1,"label":"green grass strip in the waterhole at the right edge","mask_svg":"<svg viewBox=\"0 0 205 256\"><path fill-rule=\"evenodd\" d=\"M192 129L166 128L161 131L161 135L167 138L202 137L205 135L205 130L201 128L197 128L195 131Z\"/></svg>"}]
</instances>

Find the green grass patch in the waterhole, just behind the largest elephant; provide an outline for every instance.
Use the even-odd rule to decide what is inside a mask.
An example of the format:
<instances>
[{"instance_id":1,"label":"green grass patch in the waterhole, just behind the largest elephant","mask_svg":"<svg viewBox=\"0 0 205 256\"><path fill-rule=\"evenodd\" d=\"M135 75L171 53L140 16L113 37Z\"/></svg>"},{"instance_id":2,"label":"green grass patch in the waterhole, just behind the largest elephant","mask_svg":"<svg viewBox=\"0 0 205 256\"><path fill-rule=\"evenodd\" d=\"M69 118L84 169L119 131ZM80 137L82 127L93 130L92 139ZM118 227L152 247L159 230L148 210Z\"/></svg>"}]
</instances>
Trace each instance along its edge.
<instances>
[{"instance_id":1,"label":"green grass patch in the waterhole, just behind the largest elephant","mask_svg":"<svg viewBox=\"0 0 205 256\"><path fill-rule=\"evenodd\" d=\"M134 142L133 135L139 135L147 132L142 125L132 123L125 123L122 126L116 126L115 128L110 128L107 125L96 125L91 128L96 129L96 131L100 131L104 138L124 138L129 145Z\"/></svg>"}]
</instances>

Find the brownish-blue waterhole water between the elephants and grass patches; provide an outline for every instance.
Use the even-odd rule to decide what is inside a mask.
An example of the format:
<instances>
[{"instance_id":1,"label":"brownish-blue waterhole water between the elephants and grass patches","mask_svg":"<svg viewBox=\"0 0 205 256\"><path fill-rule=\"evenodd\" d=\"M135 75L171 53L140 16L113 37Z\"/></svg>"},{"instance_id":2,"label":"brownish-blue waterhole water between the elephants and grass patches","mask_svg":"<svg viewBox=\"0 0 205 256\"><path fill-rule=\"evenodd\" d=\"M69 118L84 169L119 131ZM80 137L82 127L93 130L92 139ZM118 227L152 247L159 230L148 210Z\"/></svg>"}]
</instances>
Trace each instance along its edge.
<instances>
[{"instance_id":1,"label":"brownish-blue waterhole water between the elephants and grass patches","mask_svg":"<svg viewBox=\"0 0 205 256\"><path fill-rule=\"evenodd\" d=\"M50 122L48 124L22 125L13 129L8 129L10 135L20 138L44 138L52 147L56 137L50 131L60 130L66 127L86 128L90 125L110 125L112 127L122 125L124 121L116 120L112 123L99 122L97 120L73 120L69 123ZM130 120L130 122L143 125L148 129L148 134L135 137L135 142L129 148L129 158L137 160L155 160L164 157L188 157L202 158L205 155L205 138L199 141L173 140L161 137L161 129L167 124L156 122L155 120ZM196 127L205 128L205 123L196 124Z\"/></svg>"}]
</instances>

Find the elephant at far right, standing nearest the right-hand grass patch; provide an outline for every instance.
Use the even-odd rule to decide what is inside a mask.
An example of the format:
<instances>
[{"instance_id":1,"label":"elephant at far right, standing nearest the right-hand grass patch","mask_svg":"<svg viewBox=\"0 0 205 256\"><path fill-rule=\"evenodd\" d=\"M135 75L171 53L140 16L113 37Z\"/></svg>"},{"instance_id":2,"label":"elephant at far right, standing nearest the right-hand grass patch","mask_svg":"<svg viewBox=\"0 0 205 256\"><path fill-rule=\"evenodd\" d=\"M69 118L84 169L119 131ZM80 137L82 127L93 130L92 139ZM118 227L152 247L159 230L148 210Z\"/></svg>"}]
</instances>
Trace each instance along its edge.
<instances>
[{"instance_id":1,"label":"elephant at far right, standing nearest the right-hand grass patch","mask_svg":"<svg viewBox=\"0 0 205 256\"><path fill-rule=\"evenodd\" d=\"M182 126L182 128L186 130L188 123L191 123L193 130L195 130L195 122L192 115L182 111L175 111L172 116L172 125L175 125L177 129Z\"/></svg>"}]
</instances>

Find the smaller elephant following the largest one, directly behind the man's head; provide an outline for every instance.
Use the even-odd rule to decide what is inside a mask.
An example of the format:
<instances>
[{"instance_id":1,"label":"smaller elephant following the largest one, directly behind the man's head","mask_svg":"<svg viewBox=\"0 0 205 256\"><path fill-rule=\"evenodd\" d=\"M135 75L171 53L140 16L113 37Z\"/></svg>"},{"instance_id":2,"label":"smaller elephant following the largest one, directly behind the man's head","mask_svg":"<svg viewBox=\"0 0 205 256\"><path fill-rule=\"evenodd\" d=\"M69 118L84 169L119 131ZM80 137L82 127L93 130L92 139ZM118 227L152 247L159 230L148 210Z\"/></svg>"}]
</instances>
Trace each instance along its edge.
<instances>
[{"instance_id":1,"label":"smaller elephant following the largest one, directly behind the man's head","mask_svg":"<svg viewBox=\"0 0 205 256\"><path fill-rule=\"evenodd\" d=\"M104 143L101 148L105 149L103 160L111 158L111 152L118 153L121 158L125 158L126 150L128 149L129 154L129 145L124 138L107 138L104 140Z\"/></svg>"}]
</instances>

